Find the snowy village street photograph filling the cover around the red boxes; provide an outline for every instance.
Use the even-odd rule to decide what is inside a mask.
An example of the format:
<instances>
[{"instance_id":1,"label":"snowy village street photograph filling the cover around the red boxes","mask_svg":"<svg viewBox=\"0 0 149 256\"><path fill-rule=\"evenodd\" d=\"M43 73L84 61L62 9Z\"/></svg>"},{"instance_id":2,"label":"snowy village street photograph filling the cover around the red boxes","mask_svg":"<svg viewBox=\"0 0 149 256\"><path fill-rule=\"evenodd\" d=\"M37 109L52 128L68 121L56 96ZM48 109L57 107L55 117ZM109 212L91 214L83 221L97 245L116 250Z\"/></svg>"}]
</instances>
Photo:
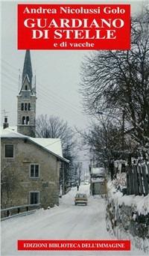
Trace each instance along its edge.
<instances>
[{"instance_id":1,"label":"snowy village street photograph filling the cover around the red boxes","mask_svg":"<svg viewBox=\"0 0 149 256\"><path fill-rule=\"evenodd\" d=\"M1 1L1 256L149 253L149 1L123 2L131 49L91 52L16 49L18 2ZM21 252L17 240L131 249Z\"/></svg>"}]
</instances>

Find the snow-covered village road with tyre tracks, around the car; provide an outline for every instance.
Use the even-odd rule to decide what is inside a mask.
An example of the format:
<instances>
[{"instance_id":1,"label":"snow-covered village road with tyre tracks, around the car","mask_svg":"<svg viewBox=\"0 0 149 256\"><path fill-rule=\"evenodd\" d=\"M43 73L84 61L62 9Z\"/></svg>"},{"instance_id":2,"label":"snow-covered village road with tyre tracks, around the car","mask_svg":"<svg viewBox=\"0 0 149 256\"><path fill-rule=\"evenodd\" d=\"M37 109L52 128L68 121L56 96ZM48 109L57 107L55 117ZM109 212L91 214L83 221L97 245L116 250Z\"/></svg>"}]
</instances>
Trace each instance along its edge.
<instances>
[{"instance_id":1,"label":"snow-covered village road with tyre tracks, around the car","mask_svg":"<svg viewBox=\"0 0 149 256\"><path fill-rule=\"evenodd\" d=\"M104 198L89 195L89 185L81 185L80 192L89 198L87 206L74 204L76 188L63 198L60 206L49 210L37 210L29 216L1 222L1 256L13 255L145 255L143 252L75 252L75 251L17 251L17 240L113 240L106 229L106 202Z\"/></svg>"}]
</instances>

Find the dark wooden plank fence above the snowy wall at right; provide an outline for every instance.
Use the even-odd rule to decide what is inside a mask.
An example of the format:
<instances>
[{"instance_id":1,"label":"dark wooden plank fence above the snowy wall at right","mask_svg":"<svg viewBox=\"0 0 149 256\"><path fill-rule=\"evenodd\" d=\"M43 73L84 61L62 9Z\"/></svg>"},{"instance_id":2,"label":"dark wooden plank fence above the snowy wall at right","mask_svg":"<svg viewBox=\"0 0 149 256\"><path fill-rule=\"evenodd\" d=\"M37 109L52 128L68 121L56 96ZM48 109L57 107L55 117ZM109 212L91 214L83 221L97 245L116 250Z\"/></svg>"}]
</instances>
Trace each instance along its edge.
<instances>
[{"instance_id":1,"label":"dark wooden plank fence above the snowy wall at right","mask_svg":"<svg viewBox=\"0 0 149 256\"><path fill-rule=\"evenodd\" d=\"M127 169L127 195L149 194L149 163L130 165Z\"/></svg>"}]
</instances>

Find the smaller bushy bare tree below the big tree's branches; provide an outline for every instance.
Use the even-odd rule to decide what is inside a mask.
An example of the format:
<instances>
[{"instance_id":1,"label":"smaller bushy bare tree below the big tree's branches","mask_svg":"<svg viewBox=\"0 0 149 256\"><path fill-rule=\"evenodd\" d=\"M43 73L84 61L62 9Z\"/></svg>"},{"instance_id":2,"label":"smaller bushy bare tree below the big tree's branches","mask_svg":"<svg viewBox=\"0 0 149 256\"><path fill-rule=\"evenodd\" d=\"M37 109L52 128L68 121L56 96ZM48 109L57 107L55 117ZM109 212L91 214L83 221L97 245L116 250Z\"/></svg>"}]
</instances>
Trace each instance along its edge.
<instances>
[{"instance_id":1,"label":"smaller bushy bare tree below the big tree's branches","mask_svg":"<svg viewBox=\"0 0 149 256\"><path fill-rule=\"evenodd\" d=\"M136 149L136 144L128 135L122 144L121 123L113 122L109 117L92 121L90 128L80 132L80 135L83 145L90 148L93 165L108 168L112 159L128 159Z\"/></svg>"}]
</instances>

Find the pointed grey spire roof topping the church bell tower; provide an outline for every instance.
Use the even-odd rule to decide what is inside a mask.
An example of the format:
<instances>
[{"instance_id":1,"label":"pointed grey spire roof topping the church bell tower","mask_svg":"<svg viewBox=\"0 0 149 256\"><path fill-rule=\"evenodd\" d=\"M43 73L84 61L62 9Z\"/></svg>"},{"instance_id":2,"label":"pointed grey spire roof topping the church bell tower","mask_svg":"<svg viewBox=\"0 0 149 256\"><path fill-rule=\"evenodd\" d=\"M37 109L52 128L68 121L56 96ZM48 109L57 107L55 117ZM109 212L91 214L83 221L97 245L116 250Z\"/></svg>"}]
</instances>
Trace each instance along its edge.
<instances>
[{"instance_id":1,"label":"pointed grey spire roof topping the church bell tower","mask_svg":"<svg viewBox=\"0 0 149 256\"><path fill-rule=\"evenodd\" d=\"M24 62L23 73L22 73L22 82L24 81L25 76L28 76L28 79L29 79L30 85L31 85L31 79L32 79L33 73L32 73L32 66L31 66L30 50L26 50L26 53L25 53L25 62Z\"/></svg>"}]
</instances>

